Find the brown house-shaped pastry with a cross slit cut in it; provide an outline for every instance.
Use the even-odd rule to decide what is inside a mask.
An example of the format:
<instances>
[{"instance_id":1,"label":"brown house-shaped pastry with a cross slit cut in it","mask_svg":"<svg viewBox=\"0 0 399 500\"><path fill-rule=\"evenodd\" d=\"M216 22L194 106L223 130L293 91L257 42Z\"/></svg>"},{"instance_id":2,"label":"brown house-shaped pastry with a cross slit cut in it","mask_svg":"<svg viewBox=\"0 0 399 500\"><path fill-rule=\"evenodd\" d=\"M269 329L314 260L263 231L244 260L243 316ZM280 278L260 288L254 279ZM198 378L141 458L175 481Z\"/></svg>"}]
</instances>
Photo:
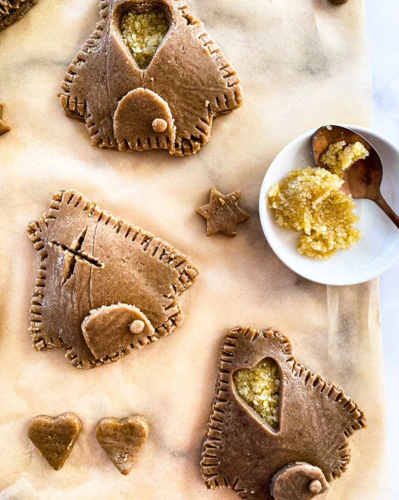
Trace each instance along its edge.
<instances>
[{"instance_id":1,"label":"brown house-shaped pastry with a cross slit cut in it","mask_svg":"<svg viewBox=\"0 0 399 500\"><path fill-rule=\"evenodd\" d=\"M197 279L186 255L73 190L60 190L28 236L39 256L30 309L37 350L64 347L74 366L116 361L172 332Z\"/></svg>"}]
</instances>

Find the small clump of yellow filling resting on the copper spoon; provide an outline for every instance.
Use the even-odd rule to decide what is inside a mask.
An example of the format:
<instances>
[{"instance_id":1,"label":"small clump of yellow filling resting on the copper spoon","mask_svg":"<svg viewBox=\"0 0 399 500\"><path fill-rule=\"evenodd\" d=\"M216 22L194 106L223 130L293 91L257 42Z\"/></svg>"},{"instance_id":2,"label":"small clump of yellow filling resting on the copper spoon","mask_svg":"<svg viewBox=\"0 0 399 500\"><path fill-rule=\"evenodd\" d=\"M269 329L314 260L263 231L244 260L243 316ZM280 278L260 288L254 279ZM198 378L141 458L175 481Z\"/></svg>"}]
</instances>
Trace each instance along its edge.
<instances>
[{"instance_id":1,"label":"small clump of yellow filling resting on the copper spoon","mask_svg":"<svg viewBox=\"0 0 399 500\"><path fill-rule=\"evenodd\" d=\"M345 145L345 140L334 142L320 156L320 161L329 167L330 172L335 173L340 178L343 177L344 170L352 166L355 161L369 155L369 151L361 142L355 142L346 147Z\"/></svg>"}]
</instances>

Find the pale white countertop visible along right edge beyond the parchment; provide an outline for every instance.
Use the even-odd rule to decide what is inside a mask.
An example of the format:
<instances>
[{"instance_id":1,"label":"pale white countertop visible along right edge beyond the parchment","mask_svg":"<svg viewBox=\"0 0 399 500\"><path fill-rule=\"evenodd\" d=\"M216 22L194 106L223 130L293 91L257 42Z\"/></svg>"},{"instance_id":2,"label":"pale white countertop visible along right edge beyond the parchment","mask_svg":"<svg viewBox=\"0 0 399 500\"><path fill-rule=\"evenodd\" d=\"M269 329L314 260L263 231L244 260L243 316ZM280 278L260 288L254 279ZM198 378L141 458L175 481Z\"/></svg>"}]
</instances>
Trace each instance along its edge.
<instances>
[{"instance_id":1,"label":"pale white countertop visible along right edge beyond the parchment","mask_svg":"<svg viewBox=\"0 0 399 500\"><path fill-rule=\"evenodd\" d=\"M370 64L373 78L372 128L399 144L399 4L366 0ZM399 167L399 165L398 165ZM399 498L399 262L380 276L380 321L387 388L388 441L392 498Z\"/></svg>"}]
</instances>

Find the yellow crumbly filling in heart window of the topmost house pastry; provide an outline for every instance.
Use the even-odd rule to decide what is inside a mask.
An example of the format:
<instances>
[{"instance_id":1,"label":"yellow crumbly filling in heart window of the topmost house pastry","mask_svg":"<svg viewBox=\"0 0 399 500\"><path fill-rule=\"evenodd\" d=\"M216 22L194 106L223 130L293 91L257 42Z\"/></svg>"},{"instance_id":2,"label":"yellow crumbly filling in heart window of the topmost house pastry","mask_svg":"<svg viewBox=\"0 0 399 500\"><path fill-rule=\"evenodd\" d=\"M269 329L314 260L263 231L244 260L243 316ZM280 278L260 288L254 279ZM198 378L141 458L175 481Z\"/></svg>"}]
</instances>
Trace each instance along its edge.
<instances>
[{"instance_id":1,"label":"yellow crumbly filling in heart window of the topmost house pastry","mask_svg":"<svg viewBox=\"0 0 399 500\"><path fill-rule=\"evenodd\" d=\"M140 69L146 69L169 29L165 13L159 8L145 12L128 10L120 23L122 38Z\"/></svg>"}]
</instances>

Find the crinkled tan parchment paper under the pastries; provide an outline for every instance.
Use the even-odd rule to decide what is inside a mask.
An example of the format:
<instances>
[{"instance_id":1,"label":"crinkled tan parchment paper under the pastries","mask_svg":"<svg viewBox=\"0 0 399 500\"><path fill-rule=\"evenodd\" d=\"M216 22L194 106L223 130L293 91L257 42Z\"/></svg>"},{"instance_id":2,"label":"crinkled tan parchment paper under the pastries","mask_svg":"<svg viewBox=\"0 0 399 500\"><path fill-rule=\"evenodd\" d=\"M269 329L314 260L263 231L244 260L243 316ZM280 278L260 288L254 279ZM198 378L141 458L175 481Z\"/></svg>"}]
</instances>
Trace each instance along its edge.
<instances>
[{"instance_id":1,"label":"crinkled tan parchment paper under the pastries","mask_svg":"<svg viewBox=\"0 0 399 500\"><path fill-rule=\"evenodd\" d=\"M269 248L257 214L265 171L300 133L324 123L369 125L371 78L363 0L191 0L242 79L242 108L217 118L196 156L128 153L90 144L56 93L99 19L96 0L39 0L0 33L0 99L12 130L0 137L1 500L235 498L208 491L200 449L222 336L273 326L297 358L341 385L369 427L351 438L352 463L326 498L390 495L377 281L332 287L290 271ZM249 220L238 235L206 237L195 209L210 188L241 189ZM114 215L191 256L200 277L181 299L184 324L117 363L77 370L62 349L35 352L27 331L38 257L25 234L52 194L74 187ZM26 428L37 414L76 412L82 432L61 470ZM149 438L122 476L94 437L98 420L143 414Z\"/></svg>"}]
</instances>

